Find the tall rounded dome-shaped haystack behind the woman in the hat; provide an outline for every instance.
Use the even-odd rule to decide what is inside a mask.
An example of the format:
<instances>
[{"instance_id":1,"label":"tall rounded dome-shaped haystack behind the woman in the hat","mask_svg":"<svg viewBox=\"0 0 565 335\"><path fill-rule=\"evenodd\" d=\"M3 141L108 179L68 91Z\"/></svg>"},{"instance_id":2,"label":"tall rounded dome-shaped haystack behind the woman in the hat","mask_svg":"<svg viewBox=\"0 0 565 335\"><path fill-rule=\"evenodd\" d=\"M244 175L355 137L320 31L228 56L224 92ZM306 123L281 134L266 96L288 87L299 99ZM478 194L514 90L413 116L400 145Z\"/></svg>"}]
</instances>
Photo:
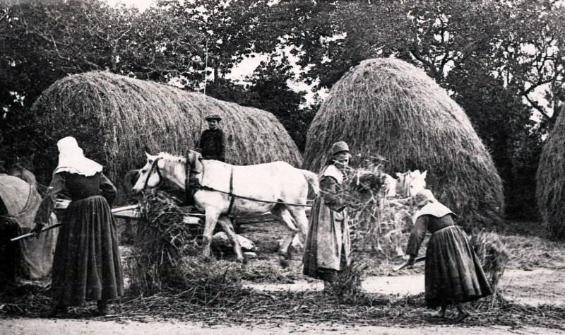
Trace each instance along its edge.
<instances>
[{"instance_id":1,"label":"tall rounded dome-shaped haystack behind the woman in the hat","mask_svg":"<svg viewBox=\"0 0 565 335\"><path fill-rule=\"evenodd\" d=\"M429 189L468 228L499 221L502 182L487 149L461 107L405 61L362 61L335 83L310 125L304 167L319 170L335 141L360 159L383 156L388 173L427 170Z\"/></svg>"}]
</instances>

